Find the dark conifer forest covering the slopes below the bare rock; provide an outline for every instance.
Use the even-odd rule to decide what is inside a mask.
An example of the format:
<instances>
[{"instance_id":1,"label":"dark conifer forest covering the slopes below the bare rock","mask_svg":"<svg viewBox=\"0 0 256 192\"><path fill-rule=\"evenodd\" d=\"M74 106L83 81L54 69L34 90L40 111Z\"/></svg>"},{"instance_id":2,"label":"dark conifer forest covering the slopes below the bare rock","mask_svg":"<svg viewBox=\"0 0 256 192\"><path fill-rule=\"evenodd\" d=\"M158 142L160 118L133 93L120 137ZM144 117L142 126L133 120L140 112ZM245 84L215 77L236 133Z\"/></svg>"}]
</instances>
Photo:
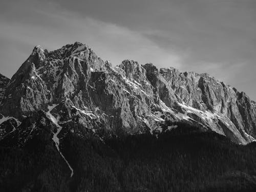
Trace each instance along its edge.
<instances>
[{"instance_id":1,"label":"dark conifer forest covering the slopes below the bare rock","mask_svg":"<svg viewBox=\"0 0 256 192\"><path fill-rule=\"evenodd\" d=\"M0 191L256 191L256 144L240 146L179 124L158 135L102 142L68 134L60 157L39 136L0 148Z\"/></svg>"}]
</instances>

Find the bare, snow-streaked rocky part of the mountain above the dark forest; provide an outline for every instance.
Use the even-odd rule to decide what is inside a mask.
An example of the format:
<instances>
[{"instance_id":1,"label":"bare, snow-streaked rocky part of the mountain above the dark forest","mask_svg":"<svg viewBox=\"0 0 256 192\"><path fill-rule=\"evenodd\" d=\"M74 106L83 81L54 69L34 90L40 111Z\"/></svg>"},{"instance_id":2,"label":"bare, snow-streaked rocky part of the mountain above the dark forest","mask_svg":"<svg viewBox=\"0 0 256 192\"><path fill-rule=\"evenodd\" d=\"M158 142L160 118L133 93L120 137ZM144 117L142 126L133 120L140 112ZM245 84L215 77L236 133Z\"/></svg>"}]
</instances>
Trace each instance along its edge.
<instances>
[{"instance_id":1,"label":"bare, snow-streaked rocky part of the mountain above the dark forest","mask_svg":"<svg viewBox=\"0 0 256 192\"><path fill-rule=\"evenodd\" d=\"M256 104L245 93L208 74L158 70L152 63L141 66L133 60L113 67L80 42L51 52L35 47L11 83L7 79L0 86L2 140L16 134L23 138L20 143L26 142L44 127L46 121L39 116L52 122L47 129L53 140L67 132L90 131L103 139L157 135L179 121L236 143L256 138Z\"/></svg>"}]
</instances>

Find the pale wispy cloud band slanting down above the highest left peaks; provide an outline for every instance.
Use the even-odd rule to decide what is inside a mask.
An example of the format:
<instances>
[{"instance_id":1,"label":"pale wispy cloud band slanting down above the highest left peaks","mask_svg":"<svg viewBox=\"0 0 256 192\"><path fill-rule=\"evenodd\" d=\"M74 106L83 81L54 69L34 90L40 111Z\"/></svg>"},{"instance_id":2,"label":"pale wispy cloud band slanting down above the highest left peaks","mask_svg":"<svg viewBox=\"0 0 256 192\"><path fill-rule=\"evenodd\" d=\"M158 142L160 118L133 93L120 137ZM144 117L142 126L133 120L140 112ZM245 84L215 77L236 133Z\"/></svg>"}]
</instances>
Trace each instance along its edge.
<instances>
[{"instance_id":1,"label":"pale wispy cloud band slanting down above the highest left peaks","mask_svg":"<svg viewBox=\"0 0 256 192\"><path fill-rule=\"evenodd\" d=\"M53 6L50 10L44 7L28 7L33 18L16 21L0 19L0 42L8 49L3 49L1 57L9 59L3 66L7 71L10 63L15 63L16 68L21 65L24 57L15 55L29 55L33 46L41 45L49 50L57 49L74 41L82 41L105 60L111 60L118 65L123 59L134 59L140 63L154 62L158 66L179 66L179 57L159 48L154 42L125 27L102 22L90 17L75 15L73 12L61 10ZM28 11L26 8L23 11ZM56 10L57 9L57 10ZM14 11L16 11L14 9ZM27 16L26 16L27 17ZM43 24L43 25L42 25ZM8 39L8 41L7 41ZM24 45L23 49L16 50L14 44ZM13 50L10 52L10 50ZM19 52L18 54L16 52ZM11 68L13 70L13 67ZM2 71L2 70L1 70ZM12 71L12 74L14 71Z\"/></svg>"}]
</instances>

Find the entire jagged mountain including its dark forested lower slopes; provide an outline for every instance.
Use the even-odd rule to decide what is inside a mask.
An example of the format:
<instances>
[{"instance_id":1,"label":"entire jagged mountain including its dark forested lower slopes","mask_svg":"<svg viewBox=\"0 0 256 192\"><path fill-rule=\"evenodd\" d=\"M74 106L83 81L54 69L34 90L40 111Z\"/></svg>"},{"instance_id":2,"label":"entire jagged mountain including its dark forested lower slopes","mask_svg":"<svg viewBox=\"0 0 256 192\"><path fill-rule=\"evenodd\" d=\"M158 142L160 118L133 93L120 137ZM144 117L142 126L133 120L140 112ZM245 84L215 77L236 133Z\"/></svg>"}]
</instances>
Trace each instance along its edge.
<instances>
[{"instance_id":1,"label":"entire jagged mountain including its dark forested lower slopes","mask_svg":"<svg viewBox=\"0 0 256 192\"><path fill-rule=\"evenodd\" d=\"M155 163L161 158L164 162L173 160L169 157L175 153L184 160L179 164L175 159L174 165L178 167L186 166L190 158L196 164L206 158L203 162L209 166L207 171L200 169L200 182L191 181L190 187L205 185L201 191L210 191L207 187L216 187L223 178L231 177L243 180L252 191L255 189L251 181L256 169L250 163L254 159L248 155L255 153L254 148L244 146L245 151L241 152L242 146L236 144L255 141L256 103L244 92L206 73L183 73L172 67L159 70L152 63L139 65L133 60L124 60L114 67L87 45L75 42L50 52L36 46L10 80L4 76L0 76L0 80L0 164L4 173L0 186L4 186L3 191L19 191L20 188L24 191L84 191L90 187L89 191L102 191L104 188L99 186L110 187L105 191L150 191L139 186L152 178L144 175L137 186L138 181L129 180L129 175L132 177L133 171L144 173L140 162L149 158L150 152L159 154L165 144L171 148L185 147L186 152L166 149L163 156L159 155L156 161L153 158L148 166L157 166ZM186 131L182 131L184 127ZM177 136L179 131L182 134ZM174 135L168 136L169 133ZM208 146L202 150L204 155L194 157L188 152L194 142L198 142L197 147ZM144 154L144 150L148 150L148 154ZM197 153L196 148L193 150ZM216 154L208 154L207 150ZM212 159L214 155L218 158ZM231 157L241 164L240 169L235 168L233 161L232 166L224 167L224 162ZM219 164L210 165L213 162ZM134 164L124 173L129 163ZM135 165L140 168L136 169ZM169 170L164 167L171 165L163 163L161 166L159 174L169 177ZM211 166L219 170L217 175ZM197 170L190 169L192 165L184 173L197 174ZM248 172L249 169L253 171ZM207 174L209 178L204 178ZM161 177L166 179L165 176ZM103 179L99 181L100 178ZM177 182L179 178L184 185L184 175L170 181ZM237 189L234 180L227 189ZM12 186L13 182L17 185ZM166 191L169 185L167 182L159 191ZM54 188L58 186L63 188ZM99 188L92 190L93 187Z\"/></svg>"}]
</instances>

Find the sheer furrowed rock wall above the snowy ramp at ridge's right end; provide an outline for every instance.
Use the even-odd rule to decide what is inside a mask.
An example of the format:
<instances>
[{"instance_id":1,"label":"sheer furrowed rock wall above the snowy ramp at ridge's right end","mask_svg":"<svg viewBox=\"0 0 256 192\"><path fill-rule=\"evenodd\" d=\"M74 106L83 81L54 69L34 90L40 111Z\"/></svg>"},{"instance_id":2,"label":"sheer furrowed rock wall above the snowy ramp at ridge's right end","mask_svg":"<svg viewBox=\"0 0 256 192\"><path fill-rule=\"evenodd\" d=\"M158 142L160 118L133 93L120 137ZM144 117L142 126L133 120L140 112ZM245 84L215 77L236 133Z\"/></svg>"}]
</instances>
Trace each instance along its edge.
<instances>
[{"instance_id":1,"label":"sheer furrowed rock wall above the snowy ramp at ridge's right end","mask_svg":"<svg viewBox=\"0 0 256 192\"><path fill-rule=\"evenodd\" d=\"M242 137L255 130L255 108L245 93L239 93L206 73L180 73L174 68L160 69L160 73L187 105L227 117Z\"/></svg>"}]
</instances>

